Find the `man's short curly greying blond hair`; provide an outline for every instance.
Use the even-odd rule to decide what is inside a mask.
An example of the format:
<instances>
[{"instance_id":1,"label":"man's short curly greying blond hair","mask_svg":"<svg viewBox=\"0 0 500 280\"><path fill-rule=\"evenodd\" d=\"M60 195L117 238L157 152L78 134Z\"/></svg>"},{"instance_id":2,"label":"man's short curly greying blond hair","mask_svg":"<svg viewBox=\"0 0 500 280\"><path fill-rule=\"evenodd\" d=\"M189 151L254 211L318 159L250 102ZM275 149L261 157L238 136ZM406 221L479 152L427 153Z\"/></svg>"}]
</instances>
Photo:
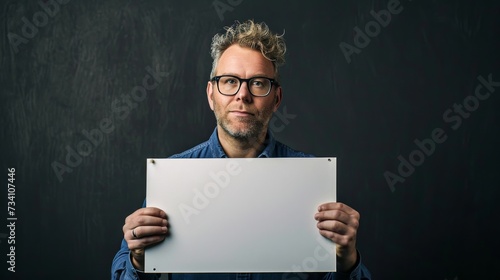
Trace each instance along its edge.
<instances>
[{"instance_id":1,"label":"man's short curly greying blond hair","mask_svg":"<svg viewBox=\"0 0 500 280\"><path fill-rule=\"evenodd\" d=\"M255 23L253 20L235 22L232 26L224 28L226 33L216 34L212 38L210 54L212 55L212 72L210 78L215 76L215 69L222 53L233 44L258 50L274 65L275 79L279 81L278 67L285 63L286 45L283 34L278 35L269 30L264 23Z\"/></svg>"}]
</instances>

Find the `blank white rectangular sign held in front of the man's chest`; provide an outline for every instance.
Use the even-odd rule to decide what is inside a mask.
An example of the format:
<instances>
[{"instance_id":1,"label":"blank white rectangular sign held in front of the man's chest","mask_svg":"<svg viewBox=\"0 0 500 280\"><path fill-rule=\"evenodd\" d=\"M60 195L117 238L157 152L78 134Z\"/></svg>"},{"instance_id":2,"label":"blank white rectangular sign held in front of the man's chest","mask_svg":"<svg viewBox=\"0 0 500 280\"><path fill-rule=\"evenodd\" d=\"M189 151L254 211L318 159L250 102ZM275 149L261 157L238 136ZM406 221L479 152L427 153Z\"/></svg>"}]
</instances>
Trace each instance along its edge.
<instances>
[{"instance_id":1,"label":"blank white rectangular sign held in front of the man's chest","mask_svg":"<svg viewBox=\"0 0 500 280\"><path fill-rule=\"evenodd\" d=\"M336 270L314 214L336 201L336 158L148 159L147 206L170 236L146 272Z\"/></svg>"}]
</instances>

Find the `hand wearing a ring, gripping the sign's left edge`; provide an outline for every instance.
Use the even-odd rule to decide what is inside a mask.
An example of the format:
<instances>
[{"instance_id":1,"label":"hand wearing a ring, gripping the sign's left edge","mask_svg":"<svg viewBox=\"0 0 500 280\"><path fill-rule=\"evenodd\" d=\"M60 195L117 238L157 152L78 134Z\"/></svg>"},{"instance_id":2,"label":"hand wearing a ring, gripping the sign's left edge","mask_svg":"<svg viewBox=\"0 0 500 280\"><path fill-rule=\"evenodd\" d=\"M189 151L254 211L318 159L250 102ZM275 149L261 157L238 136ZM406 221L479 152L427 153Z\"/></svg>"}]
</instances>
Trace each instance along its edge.
<instances>
[{"instance_id":1,"label":"hand wearing a ring, gripping the sign's left edge","mask_svg":"<svg viewBox=\"0 0 500 280\"><path fill-rule=\"evenodd\" d=\"M123 238L136 269L144 270L144 248L163 241L168 233L167 225L167 214L156 207L141 208L125 219Z\"/></svg>"}]
</instances>

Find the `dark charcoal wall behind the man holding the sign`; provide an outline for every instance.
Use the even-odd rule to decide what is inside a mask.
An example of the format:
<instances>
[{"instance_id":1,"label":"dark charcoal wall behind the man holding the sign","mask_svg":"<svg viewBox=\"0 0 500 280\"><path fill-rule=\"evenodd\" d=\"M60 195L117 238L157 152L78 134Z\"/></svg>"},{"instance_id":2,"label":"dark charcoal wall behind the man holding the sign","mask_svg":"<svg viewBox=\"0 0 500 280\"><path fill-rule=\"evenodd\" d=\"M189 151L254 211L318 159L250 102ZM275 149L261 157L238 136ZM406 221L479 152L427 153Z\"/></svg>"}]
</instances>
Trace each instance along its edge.
<instances>
[{"instance_id":1,"label":"dark charcoal wall behind the man holding the sign","mask_svg":"<svg viewBox=\"0 0 500 280\"><path fill-rule=\"evenodd\" d=\"M43 10L3 1L0 170L7 178L16 168L18 217L8 279L109 278L124 219L145 197L145 159L209 137L211 38L249 18L286 31L280 111L295 118L275 135L338 157L339 201L361 213L358 247L374 278L497 277L500 87L456 130L443 113L474 93L478 76L500 81L498 2L402 0L351 63L339 44L352 45L353 28L390 1L230 2L221 17L213 1L68 1L15 52L7 34L21 36L22 18ZM169 75L120 119L111 104L142 84L147 66ZM114 130L59 180L52 164L104 118ZM435 128L447 140L391 191L384 172L397 173L398 156Z\"/></svg>"}]
</instances>

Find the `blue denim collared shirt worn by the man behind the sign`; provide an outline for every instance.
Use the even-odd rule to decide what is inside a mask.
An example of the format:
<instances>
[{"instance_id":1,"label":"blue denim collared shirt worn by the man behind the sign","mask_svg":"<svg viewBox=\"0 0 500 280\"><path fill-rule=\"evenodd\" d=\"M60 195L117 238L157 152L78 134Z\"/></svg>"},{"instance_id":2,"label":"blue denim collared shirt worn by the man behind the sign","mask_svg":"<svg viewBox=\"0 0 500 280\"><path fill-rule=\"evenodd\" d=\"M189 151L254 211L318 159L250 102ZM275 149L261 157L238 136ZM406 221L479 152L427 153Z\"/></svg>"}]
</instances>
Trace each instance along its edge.
<instances>
[{"instance_id":1,"label":"blue denim collared shirt worn by the man behind the sign","mask_svg":"<svg viewBox=\"0 0 500 280\"><path fill-rule=\"evenodd\" d=\"M295 151L292 148L276 141L271 131L268 131L264 149L259 154L262 157L312 157L312 155ZM217 128L210 139L185 152L171 156L171 158L227 158L217 136ZM143 204L145 207L145 203ZM131 262L130 251L125 239L122 240L120 250L116 253L111 266L111 279L158 279L159 274L144 273L136 270ZM358 263L350 273L185 273L169 274L171 280L362 280L371 279L370 272L361 263L358 252Z\"/></svg>"}]
</instances>

